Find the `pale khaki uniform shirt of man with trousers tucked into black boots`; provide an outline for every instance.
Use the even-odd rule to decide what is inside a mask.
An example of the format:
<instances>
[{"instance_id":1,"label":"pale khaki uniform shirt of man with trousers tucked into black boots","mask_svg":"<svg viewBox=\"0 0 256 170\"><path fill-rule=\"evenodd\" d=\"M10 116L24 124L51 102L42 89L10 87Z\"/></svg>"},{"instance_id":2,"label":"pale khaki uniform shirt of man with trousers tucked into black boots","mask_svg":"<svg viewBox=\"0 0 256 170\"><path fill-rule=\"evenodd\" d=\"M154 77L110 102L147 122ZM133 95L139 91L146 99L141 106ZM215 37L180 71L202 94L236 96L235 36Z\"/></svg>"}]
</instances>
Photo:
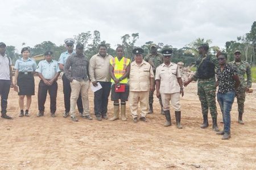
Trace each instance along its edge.
<instances>
[{"instance_id":1,"label":"pale khaki uniform shirt of man with trousers tucked into black boots","mask_svg":"<svg viewBox=\"0 0 256 170\"><path fill-rule=\"evenodd\" d=\"M156 68L155 80L160 80L160 94L174 94L180 92L177 78L180 78L180 69L176 63L171 62L169 66L164 63Z\"/></svg>"}]
</instances>

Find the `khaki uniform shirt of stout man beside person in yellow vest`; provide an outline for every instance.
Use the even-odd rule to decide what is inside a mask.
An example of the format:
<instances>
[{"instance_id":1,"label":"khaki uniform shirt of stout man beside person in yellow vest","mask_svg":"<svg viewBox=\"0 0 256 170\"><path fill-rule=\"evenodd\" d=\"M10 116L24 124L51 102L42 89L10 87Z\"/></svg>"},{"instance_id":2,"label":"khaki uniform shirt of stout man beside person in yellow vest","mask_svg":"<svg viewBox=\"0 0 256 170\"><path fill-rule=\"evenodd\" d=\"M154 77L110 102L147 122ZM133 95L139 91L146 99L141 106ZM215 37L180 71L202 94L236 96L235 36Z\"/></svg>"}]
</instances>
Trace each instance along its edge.
<instances>
[{"instance_id":1,"label":"khaki uniform shirt of stout man beside person in yellow vest","mask_svg":"<svg viewBox=\"0 0 256 170\"><path fill-rule=\"evenodd\" d=\"M142 61L138 66L135 61L131 62L130 69L130 91L149 91L150 78L154 78L154 73L150 63Z\"/></svg>"}]
</instances>

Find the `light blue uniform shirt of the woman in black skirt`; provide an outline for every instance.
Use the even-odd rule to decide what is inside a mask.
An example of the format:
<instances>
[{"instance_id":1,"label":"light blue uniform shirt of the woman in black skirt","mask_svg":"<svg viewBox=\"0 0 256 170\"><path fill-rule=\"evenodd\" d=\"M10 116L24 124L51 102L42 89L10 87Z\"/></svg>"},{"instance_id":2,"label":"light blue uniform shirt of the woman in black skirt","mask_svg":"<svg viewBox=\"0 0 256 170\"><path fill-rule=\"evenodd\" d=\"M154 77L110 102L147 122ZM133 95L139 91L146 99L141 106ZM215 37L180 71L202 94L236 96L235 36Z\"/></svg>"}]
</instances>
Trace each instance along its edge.
<instances>
[{"instance_id":1,"label":"light blue uniform shirt of the woman in black skirt","mask_svg":"<svg viewBox=\"0 0 256 170\"><path fill-rule=\"evenodd\" d=\"M26 61L19 58L15 62L14 69L19 70L19 72L32 72L36 69L36 62L32 58L28 58Z\"/></svg>"}]
</instances>

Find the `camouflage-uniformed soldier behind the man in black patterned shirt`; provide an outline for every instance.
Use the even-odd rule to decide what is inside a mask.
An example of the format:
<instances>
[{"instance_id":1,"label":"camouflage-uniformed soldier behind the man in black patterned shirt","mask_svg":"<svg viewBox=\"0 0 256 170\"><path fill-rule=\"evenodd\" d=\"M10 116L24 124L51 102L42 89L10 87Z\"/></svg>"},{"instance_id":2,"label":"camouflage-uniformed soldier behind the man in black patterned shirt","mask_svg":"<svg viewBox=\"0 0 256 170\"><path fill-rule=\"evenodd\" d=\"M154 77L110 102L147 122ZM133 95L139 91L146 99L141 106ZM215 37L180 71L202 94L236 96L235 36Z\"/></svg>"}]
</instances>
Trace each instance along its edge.
<instances>
[{"instance_id":1,"label":"camouflage-uniformed soldier behind the man in black patterned shirt","mask_svg":"<svg viewBox=\"0 0 256 170\"><path fill-rule=\"evenodd\" d=\"M249 91L251 87L251 67L249 63L241 60L241 52L237 50L234 52L234 61L229 62L229 65L233 65L237 68L238 76L240 79L240 87L236 91L237 104L238 104L238 123L243 125L243 110L245 107L245 92ZM247 80L245 80L245 74L247 76Z\"/></svg>"}]
</instances>

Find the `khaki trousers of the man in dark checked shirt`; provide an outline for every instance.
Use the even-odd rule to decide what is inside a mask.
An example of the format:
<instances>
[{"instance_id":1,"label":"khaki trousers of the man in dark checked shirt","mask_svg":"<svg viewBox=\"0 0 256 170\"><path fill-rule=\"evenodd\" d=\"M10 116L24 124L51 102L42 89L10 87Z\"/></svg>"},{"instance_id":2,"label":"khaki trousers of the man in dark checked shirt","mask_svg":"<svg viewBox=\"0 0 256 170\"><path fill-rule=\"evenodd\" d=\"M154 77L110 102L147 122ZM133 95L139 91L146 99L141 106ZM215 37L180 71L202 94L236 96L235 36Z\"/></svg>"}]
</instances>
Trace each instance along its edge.
<instances>
[{"instance_id":1,"label":"khaki trousers of the man in dark checked shirt","mask_svg":"<svg viewBox=\"0 0 256 170\"><path fill-rule=\"evenodd\" d=\"M84 107L84 113L83 116L86 116L89 114L89 100L88 100L88 90L90 86L89 80L86 82L82 80L81 82L77 80L73 80L70 83L71 86L71 97L70 97L70 116L74 117L76 116L76 101L79 97L79 93L81 92L82 97L82 105Z\"/></svg>"}]
</instances>

